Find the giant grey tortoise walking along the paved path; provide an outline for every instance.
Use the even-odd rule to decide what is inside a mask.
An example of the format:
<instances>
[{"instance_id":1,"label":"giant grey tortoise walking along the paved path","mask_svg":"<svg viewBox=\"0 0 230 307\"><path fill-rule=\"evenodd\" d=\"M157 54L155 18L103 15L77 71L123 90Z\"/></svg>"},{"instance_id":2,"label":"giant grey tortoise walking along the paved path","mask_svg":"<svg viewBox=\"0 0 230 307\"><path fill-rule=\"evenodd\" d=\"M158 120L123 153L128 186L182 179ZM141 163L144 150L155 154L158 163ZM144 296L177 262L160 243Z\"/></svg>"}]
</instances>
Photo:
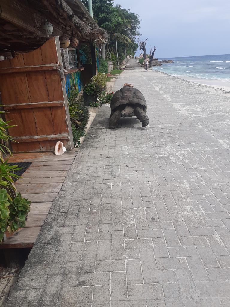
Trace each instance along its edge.
<instances>
[{"instance_id":1,"label":"giant grey tortoise walking along the paved path","mask_svg":"<svg viewBox=\"0 0 230 307\"><path fill-rule=\"evenodd\" d=\"M117 128L117 122L121 117L136 116L142 123L142 127L148 125L146 114L147 103L142 93L133 88L132 84L125 84L116 91L110 103L109 128Z\"/></svg>"}]
</instances>

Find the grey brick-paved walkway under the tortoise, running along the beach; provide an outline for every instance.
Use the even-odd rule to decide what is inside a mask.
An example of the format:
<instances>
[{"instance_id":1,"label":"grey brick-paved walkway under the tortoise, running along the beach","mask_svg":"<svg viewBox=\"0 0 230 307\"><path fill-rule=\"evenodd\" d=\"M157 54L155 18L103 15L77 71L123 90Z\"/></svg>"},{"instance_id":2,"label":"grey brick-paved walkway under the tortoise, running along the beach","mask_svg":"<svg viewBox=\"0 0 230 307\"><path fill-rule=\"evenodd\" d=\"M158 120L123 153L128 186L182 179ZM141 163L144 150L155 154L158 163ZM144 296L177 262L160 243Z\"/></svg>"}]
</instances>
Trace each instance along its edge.
<instances>
[{"instance_id":1,"label":"grey brick-paved walkway under the tortoise, running along the beach","mask_svg":"<svg viewBox=\"0 0 230 307\"><path fill-rule=\"evenodd\" d=\"M8 307L230 305L230 93L127 68L150 123L100 109Z\"/></svg>"}]
</instances>

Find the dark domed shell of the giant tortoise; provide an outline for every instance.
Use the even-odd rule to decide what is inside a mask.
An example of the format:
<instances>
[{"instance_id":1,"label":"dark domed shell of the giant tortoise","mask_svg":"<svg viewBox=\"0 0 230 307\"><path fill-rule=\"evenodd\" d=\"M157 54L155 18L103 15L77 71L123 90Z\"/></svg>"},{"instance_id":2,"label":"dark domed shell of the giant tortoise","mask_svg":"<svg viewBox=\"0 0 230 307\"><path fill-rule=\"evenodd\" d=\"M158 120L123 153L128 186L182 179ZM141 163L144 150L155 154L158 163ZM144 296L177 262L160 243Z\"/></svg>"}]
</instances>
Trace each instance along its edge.
<instances>
[{"instance_id":1,"label":"dark domed shell of the giant tortoise","mask_svg":"<svg viewBox=\"0 0 230 307\"><path fill-rule=\"evenodd\" d=\"M143 94L137 89L129 86L122 87L120 90L116 91L110 102L111 113L120 109L120 107L125 108L127 104L136 105L136 107L142 106L144 112L147 112L147 103Z\"/></svg>"}]
</instances>

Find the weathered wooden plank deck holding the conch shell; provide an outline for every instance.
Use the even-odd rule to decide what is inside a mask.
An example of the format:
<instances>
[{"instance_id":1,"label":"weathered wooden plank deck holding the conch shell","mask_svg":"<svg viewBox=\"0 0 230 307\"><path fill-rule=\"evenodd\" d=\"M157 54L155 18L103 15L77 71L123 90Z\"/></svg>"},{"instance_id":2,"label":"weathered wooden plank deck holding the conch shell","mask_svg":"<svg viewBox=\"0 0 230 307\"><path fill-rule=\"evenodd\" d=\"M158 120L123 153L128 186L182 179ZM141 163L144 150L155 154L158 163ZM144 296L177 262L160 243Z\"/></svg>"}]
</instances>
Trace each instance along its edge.
<instances>
[{"instance_id":1,"label":"weathered wooden plank deck holding the conch shell","mask_svg":"<svg viewBox=\"0 0 230 307\"><path fill-rule=\"evenodd\" d=\"M62 156L55 156L51 152L44 153L16 153L9 162L32 162L21 181L15 186L22 196L32 201L31 210L25 228L6 233L6 241L0 243L0 248L33 247L41 226L49 212L52 203L60 191L67 176L78 148Z\"/></svg>"}]
</instances>

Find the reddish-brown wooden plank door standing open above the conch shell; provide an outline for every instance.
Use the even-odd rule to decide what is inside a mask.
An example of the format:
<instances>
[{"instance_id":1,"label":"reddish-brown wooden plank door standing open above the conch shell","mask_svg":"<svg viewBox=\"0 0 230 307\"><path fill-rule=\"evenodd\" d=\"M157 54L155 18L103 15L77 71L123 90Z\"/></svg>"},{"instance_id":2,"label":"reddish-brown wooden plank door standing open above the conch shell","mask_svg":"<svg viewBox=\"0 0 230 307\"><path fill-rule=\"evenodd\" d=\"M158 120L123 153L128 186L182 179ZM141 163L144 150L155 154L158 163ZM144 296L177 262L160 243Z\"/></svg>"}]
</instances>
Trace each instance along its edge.
<instances>
[{"instance_id":1,"label":"reddish-brown wooden plank door standing open above the conch shell","mask_svg":"<svg viewBox=\"0 0 230 307\"><path fill-rule=\"evenodd\" d=\"M52 151L57 141L73 148L59 37L0 61L0 91L16 152Z\"/></svg>"}]
</instances>

